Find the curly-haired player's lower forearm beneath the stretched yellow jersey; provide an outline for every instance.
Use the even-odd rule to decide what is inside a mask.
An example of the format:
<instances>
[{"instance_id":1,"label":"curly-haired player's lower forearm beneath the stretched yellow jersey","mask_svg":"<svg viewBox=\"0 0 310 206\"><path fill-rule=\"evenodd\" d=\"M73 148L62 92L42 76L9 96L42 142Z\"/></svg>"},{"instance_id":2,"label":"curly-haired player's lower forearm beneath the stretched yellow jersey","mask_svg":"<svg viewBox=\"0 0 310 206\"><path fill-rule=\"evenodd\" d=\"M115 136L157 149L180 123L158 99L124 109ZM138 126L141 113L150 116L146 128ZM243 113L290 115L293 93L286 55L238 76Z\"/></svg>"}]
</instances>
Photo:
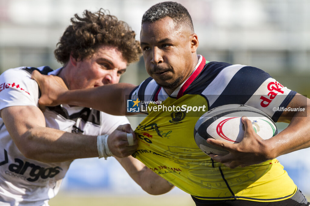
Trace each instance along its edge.
<instances>
[{"instance_id":1,"label":"curly-haired player's lower forearm beneath the stretched yellow jersey","mask_svg":"<svg viewBox=\"0 0 310 206\"><path fill-rule=\"evenodd\" d=\"M116 158L130 177L151 195L169 192L174 186L132 156Z\"/></svg>"}]
</instances>

